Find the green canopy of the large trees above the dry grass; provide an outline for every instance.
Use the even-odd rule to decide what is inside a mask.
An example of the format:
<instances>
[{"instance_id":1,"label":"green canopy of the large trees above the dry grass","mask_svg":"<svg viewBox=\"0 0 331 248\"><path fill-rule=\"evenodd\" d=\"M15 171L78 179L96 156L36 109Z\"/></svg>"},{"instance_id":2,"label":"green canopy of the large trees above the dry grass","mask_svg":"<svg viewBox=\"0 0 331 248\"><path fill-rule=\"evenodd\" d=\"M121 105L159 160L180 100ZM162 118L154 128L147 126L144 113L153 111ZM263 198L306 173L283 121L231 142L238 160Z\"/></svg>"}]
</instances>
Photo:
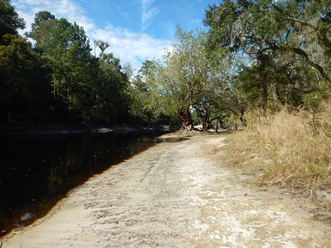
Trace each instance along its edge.
<instances>
[{"instance_id":1,"label":"green canopy of the large trees above the dry grass","mask_svg":"<svg viewBox=\"0 0 331 248\"><path fill-rule=\"evenodd\" d=\"M223 1L205 14L208 56L232 61L230 89L247 107L312 108L331 83L328 20L330 1Z\"/></svg>"}]
</instances>

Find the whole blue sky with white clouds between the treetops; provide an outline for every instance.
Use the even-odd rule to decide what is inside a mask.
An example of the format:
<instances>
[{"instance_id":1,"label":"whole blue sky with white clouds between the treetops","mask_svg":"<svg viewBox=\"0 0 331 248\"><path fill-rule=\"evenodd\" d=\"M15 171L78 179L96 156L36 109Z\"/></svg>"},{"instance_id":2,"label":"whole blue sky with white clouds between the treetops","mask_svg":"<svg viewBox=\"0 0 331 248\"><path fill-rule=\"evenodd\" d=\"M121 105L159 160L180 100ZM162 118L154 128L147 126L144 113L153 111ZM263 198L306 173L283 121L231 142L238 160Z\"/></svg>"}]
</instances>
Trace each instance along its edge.
<instances>
[{"instance_id":1,"label":"whole blue sky with white clouds between the treetops","mask_svg":"<svg viewBox=\"0 0 331 248\"><path fill-rule=\"evenodd\" d=\"M203 27L205 9L219 0L12 0L30 30L34 14L48 10L77 22L94 39L110 43L121 63L137 71L146 59L160 59L172 47L176 25L183 30Z\"/></svg>"}]
</instances>

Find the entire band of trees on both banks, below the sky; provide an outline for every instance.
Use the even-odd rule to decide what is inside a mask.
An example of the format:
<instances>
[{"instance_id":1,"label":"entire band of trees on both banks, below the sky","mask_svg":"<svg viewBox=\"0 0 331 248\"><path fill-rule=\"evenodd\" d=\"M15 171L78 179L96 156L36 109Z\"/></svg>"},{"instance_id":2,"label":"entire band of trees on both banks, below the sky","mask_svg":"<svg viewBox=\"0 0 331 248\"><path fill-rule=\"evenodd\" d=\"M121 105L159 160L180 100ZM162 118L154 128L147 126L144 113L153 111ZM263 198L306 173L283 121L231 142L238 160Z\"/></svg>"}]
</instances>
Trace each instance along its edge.
<instances>
[{"instance_id":1,"label":"entire band of trees on both banks, below the sky","mask_svg":"<svg viewBox=\"0 0 331 248\"><path fill-rule=\"evenodd\" d=\"M190 131L199 123L206 131L245 126L253 110L266 116L285 108L312 112L317 129L330 95L329 0L209 6L207 31L178 26L172 50L135 75L77 23L41 11L22 37L25 22L9 0L0 11L3 124L162 122Z\"/></svg>"}]
</instances>

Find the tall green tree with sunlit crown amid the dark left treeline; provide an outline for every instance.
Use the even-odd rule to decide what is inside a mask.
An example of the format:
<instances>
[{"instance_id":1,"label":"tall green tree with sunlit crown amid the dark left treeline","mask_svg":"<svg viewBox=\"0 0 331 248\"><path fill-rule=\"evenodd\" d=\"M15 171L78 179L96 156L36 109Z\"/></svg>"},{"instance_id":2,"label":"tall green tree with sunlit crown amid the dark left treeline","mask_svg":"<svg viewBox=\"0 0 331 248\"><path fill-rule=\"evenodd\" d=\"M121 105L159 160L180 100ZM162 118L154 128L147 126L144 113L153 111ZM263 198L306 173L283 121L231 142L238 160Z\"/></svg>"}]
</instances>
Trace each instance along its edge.
<instances>
[{"instance_id":1,"label":"tall green tree with sunlit crown amid the dark left treeline","mask_svg":"<svg viewBox=\"0 0 331 248\"><path fill-rule=\"evenodd\" d=\"M39 12L29 37L36 41L46 65L52 71L52 94L57 105L64 104L71 116L86 116L94 101L98 63L83 28L50 12Z\"/></svg>"}]
</instances>

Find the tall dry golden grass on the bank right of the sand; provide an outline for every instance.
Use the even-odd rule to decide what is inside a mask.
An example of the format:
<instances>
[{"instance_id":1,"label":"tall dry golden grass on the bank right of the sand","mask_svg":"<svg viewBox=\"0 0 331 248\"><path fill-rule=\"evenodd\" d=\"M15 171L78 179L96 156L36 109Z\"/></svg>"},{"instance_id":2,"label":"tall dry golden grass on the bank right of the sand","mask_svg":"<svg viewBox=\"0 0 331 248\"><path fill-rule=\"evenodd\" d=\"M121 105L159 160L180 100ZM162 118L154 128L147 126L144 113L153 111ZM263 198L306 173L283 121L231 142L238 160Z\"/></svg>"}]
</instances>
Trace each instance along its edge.
<instances>
[{"instance_id":1,"label":"tall dry golden grass on the bank right of the sand","mask_svg":"<svg viewBox=\"0 0 331 248\"><path fill-rule=\"evenodd\" d=\"M330 103L325 103L314 121L318 125L315 134L310 112L281 111L268 117L257 116L260 115L250 113L248 127L230 136L228 158L232 164L263 171L261 183L309 192L331 187Z\"/></svg>"}]
</instances>

